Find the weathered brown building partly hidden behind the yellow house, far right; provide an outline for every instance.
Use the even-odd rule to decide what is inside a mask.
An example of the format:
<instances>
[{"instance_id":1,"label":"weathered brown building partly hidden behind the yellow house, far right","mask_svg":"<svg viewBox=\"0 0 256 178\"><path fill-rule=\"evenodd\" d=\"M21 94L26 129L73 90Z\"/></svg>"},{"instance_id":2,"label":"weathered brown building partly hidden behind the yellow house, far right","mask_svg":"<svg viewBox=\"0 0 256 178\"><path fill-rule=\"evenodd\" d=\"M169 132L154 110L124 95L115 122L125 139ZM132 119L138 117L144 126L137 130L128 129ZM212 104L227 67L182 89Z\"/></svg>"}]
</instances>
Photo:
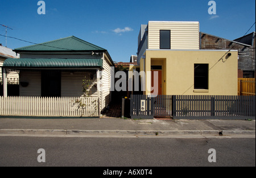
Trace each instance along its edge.
<instances>
[{"instance_id":1,"label":"weathered brown building partly hidden behind the yellow house, far right","mask_svg":"<svg viewBox=\"0 0 256 178\"><path fill-rule=\"evenodd\" d=\"M234 40L200 32L200 49L236 49L238 78L255 78L255 32Z\"/></svg>"}]
</instances>

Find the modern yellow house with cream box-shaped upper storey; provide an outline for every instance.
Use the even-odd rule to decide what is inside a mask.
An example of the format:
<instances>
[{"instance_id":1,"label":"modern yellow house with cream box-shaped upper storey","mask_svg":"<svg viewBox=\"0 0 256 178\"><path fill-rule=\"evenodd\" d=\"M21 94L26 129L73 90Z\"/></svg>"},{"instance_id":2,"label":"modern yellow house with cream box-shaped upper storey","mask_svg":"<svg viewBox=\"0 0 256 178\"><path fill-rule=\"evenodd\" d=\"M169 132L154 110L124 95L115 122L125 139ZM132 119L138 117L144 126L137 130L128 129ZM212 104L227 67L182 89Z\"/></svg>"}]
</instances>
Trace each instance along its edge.
<instances>
[{"instance_id":1,"label":"modern yellow house with cream box-shaped upper storey","mask_svg":"<svg viewBox=\"0 0 256 178\"><path fill-rule=\"evenodd\" d=\"M141 25L137 55L143 94L237 95L237 50L200 49L199 22Z\"/></svg>"}]
</instances>

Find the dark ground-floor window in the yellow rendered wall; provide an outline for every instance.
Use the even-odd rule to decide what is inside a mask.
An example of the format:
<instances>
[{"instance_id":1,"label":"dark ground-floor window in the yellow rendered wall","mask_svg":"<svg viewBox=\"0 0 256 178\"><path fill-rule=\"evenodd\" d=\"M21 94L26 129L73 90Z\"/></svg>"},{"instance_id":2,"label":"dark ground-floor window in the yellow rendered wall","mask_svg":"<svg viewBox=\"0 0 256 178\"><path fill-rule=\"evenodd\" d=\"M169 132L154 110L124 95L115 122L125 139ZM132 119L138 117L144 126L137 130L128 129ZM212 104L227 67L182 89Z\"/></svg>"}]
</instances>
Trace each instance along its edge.
<instances>
[{"instance_id":1,"label":"dark ground-floor window in the yellow rendered wall","mask_svg":"<svg viewBox=\"0 0 256 178\"><path fill-rule=\"evenodd\" d=\"M194 89L208 89L208 64L194 64Z\"/></svg>"}]
</instances>

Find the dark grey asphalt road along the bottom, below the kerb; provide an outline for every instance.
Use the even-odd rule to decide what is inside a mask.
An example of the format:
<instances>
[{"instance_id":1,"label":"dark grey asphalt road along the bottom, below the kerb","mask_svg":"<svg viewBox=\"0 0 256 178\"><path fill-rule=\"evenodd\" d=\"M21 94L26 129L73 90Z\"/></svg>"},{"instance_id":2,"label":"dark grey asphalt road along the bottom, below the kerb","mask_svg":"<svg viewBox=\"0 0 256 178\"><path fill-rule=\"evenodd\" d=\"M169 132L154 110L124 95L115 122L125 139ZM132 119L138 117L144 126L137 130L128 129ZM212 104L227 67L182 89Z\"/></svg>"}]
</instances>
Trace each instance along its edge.
<instances>
[{"instance_id":1,"label":"dark grey asphalt road along the bottom, below the kerb","mask_svg":"<svg viewBox=\"0 0 256 178\"><path fill-rule=\"evenodd\" d=\"M45 162L38 162L43 158L39 148L45 150ZM215 163L208 162L210 148L216 150ZM255 167L255 138L0 136L0 166Z\"/></svg>"}]
</instances>

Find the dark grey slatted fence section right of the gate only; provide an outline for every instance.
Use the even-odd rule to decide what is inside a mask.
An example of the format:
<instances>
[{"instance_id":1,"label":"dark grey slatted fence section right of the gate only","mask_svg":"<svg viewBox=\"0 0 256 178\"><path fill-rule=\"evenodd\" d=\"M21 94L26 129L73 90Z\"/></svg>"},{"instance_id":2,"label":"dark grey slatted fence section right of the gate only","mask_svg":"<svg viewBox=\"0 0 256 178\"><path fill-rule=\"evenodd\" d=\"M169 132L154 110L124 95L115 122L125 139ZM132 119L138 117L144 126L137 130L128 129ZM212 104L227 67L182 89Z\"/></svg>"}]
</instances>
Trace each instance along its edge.
<instances>
[{"instance_id":1,"label":"dark grey slatted fence section right of the gate only","mask_svg":"<svg viewBox=\"0 0 256 178\"><path fill-rule=\"evenodd\" d=\"M255 119L255 96L173 96L174 118Z\"/></svg>"}]
</instances>

